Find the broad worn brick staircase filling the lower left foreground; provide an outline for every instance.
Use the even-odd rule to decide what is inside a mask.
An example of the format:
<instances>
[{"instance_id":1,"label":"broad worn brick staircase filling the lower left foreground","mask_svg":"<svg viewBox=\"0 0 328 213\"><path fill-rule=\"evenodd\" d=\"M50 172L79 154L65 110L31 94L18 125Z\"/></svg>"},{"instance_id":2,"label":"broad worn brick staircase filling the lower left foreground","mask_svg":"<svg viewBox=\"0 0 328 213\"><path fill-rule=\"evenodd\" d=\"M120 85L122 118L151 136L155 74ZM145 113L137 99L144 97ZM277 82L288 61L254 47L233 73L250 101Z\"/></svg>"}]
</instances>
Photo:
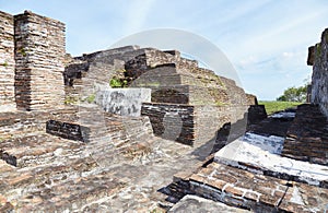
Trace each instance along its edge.
<instances>
[{"instance_id":1,"label":"broad worn brick staircase filling the lower left foreground","mask_svg":"<svg viewBox=\"0 0 328 213\"><path fill-rule=\"evenodd\" d=\"M147 118L92 107L0 117L5 137L0 143L1 211L71 212L106 200L125 182L105 165L148 154L155 141Z\"/></svg>"}]
</instances>

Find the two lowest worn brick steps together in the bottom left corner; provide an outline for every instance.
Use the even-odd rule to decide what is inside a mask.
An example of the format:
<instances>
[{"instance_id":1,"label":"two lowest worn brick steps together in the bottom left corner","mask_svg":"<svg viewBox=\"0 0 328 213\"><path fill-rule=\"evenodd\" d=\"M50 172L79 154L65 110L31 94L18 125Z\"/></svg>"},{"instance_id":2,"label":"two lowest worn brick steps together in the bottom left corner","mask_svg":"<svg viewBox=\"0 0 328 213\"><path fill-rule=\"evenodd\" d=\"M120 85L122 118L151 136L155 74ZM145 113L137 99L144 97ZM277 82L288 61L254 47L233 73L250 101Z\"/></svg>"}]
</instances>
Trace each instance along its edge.
<instances>
[{"instance_id":1,"label":"two lowest worn brick steps together in the bottom left corner","mask_svg":"<svg viewBox=\"0 0 328 213\"><path fill-rule=\"evenodd\" d=\"M90 165L85 161L11 174L4 185L0 181L1 189L5 188L2 194L16 203L17 212L72 212L86 203L104 201L125 186L110 171L97 171L92 158ZM17 187L24 190L16 191Z\"/></svg>"}]
</instances>

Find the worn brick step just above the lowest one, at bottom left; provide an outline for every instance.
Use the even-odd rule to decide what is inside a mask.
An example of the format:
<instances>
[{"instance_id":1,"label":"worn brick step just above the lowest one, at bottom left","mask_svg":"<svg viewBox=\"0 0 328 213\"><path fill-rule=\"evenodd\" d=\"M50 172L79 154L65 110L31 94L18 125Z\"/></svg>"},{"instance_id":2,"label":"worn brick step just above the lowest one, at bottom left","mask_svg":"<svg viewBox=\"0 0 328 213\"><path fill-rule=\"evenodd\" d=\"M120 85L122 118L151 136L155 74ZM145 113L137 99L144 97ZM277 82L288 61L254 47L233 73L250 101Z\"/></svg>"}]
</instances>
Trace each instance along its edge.
<instances>
[{"instance_id":1,"label":"worn brick step just above the lowest one, at bottom left","mask_svg":"<svg viewBox=\"0 0 328 213\"><path fill-rule=\"evenodd\" d=\"M85 176L83 174L96 173L97 164L92 157L75 157L59 158L54 161L52 164L43 164L34 167L11 168L11 170L1 174L2 177L5 177L0 180L1 193L8 200L20 200L30 191ZM17 191L17 188L24 190Z\"/></svg>"}]
</instances>

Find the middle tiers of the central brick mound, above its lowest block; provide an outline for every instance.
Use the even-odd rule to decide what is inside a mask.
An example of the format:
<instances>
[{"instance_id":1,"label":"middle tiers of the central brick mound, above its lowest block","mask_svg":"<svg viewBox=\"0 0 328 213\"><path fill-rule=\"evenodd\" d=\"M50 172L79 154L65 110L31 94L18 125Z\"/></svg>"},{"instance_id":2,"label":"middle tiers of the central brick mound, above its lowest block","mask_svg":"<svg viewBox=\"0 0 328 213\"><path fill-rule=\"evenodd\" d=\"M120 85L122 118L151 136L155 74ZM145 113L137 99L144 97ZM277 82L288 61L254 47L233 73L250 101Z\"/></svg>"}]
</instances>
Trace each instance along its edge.
<instances>
[{"instance_id":1,"label":"middle tiers of the central brick mound, above its lowest block","mask_svg":"<svg viewBox=\"0 0 328 213\"><path fill-rule=\"evenodd\" d=\"M152 88L152 102L247 105L244 90L236 86L234 81L220 78L206 69L195 68L191 72L186 68L177 68L175 63L167 63L141 72L143 73L130 84L130 87Z\"/></svg>"}]
</instances>

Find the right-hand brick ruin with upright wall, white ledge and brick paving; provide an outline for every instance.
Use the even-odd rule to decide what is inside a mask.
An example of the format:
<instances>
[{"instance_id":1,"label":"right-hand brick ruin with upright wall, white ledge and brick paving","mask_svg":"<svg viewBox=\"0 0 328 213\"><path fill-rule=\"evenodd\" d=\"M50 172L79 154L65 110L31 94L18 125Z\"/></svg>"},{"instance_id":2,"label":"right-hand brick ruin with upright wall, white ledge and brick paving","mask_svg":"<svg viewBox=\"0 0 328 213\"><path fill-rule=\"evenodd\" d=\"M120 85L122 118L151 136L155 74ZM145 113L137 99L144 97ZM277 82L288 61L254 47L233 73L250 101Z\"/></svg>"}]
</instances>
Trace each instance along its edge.
<instances>
[{"instance_id":1,"label":"right-hand brick ruin with upright wall, white ledge and brick paving","mask_svg":"<svg viewBox=\"0 0 328 213\"><path fill-rule=\"evenodd\" d=\"M204 209L209 201L200 197L251 212L327 211L327 35L325 29L321 42L309 47L311 104L269 116L197 170L176 174L165 189L179 200L174 209Z\"/></svg>"}]
</instances>

